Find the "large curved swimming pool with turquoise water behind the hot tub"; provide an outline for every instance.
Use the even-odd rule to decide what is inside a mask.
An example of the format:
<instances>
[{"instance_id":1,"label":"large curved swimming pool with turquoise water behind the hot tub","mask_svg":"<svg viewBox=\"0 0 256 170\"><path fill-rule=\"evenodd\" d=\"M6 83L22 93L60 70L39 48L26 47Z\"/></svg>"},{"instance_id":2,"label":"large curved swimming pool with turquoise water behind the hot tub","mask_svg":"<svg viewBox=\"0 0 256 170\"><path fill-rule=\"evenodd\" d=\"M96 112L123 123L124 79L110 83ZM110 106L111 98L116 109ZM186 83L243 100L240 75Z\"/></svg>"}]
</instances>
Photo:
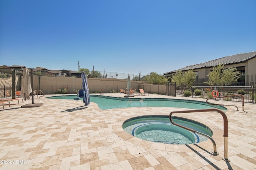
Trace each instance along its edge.
<instances>
[{"instance_id":1,"label":"large curved swimming pool with turquoise water behind the hot tub","mask_svg":"<svg viewBox=\"0 0 256 170\"><path fill-rule=\"evenodd\" d=\"M74 100L77 95L52 96L51 99ZM82 98L80 98L82 100ZM118 98L102 95L90 95L90 102L98 104L102 110L115 109L123 107L179 107L188 109L210 109L217 108L226 112L226 107L218 105L209 105L206 102L182 100L182 99L165 99L165 98Z\"/></svg>"}]
</instances>

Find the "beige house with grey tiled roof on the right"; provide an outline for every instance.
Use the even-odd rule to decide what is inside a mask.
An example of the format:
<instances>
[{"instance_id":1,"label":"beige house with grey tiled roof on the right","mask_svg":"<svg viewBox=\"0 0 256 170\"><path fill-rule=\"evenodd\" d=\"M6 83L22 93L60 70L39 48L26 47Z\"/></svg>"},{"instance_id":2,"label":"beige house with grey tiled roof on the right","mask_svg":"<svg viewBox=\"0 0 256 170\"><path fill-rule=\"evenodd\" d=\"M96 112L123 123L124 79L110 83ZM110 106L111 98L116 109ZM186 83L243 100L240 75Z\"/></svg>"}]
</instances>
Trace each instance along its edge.
<instances>
[{"instance_id":1,"label":"beige house with grey tiled roof on the right","mask_svg":"<svg viewBox=\"0 0 256 170\"><path fill-rule=\"evenodd\" d=\"M213 70L214 66L219 64L225 64L225 68L236 67L242 75L255 75L256 74L256 51L250 53L241 53L236 55L230 55L227 57L222 57L220 59L208 61L205 63L194 64L190 66L185 66L178 70L186 72L188 70L193 70L198 74L198 78L207 78L207 74ZM170 72L164 73L166 77L173 76L176 74L176 71L173 70Z\"/></svg>"}]
</instances>

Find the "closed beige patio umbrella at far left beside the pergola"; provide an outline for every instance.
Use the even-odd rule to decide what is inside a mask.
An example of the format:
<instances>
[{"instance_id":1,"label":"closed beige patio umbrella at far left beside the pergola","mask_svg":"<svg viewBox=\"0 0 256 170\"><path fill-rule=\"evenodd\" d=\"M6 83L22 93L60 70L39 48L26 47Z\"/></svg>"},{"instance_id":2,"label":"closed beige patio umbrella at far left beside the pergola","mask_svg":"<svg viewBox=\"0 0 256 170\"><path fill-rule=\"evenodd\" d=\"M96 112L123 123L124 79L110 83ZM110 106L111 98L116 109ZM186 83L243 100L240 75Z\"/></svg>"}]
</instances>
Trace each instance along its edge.
<instances>
[{"instance_id":1,"label":"closed beige patio umbrella at far left beside the pergola","mask_svg":"<svg viewBox=\"0 0 256 170\"><path fill-rule=\"evenodd\" d=\"M30 93L32 93L31 81L30 81L28 68L25 68L23 70L23 76L21 78L21 94L24 100L29 99Z\"/></svg>"}]
</instances>

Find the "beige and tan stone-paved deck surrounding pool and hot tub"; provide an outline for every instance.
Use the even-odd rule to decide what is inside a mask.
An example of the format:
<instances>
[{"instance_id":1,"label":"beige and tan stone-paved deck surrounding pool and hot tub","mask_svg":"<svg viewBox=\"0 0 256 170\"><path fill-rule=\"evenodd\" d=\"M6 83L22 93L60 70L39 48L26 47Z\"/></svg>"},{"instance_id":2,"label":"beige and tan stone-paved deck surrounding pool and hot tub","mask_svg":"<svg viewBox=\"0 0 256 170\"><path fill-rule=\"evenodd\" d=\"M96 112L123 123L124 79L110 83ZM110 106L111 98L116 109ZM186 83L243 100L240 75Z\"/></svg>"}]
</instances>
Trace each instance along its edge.
<instances>
[{"instance_id":1,"label":"beige and tan stone-paved deck surrounding pool and hot tub","mask_svg":"<svg viewBox=\"0 0 256 170\"><path fill-rule=\"evenodd\" d=\"M124 97L124 94L104 94ZM212 154L210 140L191 145L143 141L122 129L122 123L140 115L169 115L175 107L128 107L101 110L82 100L34 98L40 107L11 101L0 106L0 170L253 170L256 169L256 104L211 101L236 105L228 111L228 158L224 156L223 118L217 112L182 113L204 123L214 133L219 154ZM206 99L150 94L134 98ZM246 113L246 112L247 113Z\"/></svg>"}]
</instances>

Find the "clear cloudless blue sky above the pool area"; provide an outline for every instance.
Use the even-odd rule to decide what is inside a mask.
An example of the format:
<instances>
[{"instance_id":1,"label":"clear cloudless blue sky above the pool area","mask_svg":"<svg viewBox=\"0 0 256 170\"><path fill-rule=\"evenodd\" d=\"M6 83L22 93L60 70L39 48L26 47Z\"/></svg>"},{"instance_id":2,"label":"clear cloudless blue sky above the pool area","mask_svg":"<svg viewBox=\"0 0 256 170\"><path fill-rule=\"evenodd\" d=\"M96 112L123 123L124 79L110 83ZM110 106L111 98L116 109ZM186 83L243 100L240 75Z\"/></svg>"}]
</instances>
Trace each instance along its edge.
<instances>
[{"instance_id":1,"label":"clear cloudless blue sky above the pool area","mask_svg":"<svg viewBox=\"0 0 256 170\"><path fill-rule=\"evenodd\" d=\"M163 74L256 51L255 0L2 0L0 65Z\"/></svg>"}]
</instances>

